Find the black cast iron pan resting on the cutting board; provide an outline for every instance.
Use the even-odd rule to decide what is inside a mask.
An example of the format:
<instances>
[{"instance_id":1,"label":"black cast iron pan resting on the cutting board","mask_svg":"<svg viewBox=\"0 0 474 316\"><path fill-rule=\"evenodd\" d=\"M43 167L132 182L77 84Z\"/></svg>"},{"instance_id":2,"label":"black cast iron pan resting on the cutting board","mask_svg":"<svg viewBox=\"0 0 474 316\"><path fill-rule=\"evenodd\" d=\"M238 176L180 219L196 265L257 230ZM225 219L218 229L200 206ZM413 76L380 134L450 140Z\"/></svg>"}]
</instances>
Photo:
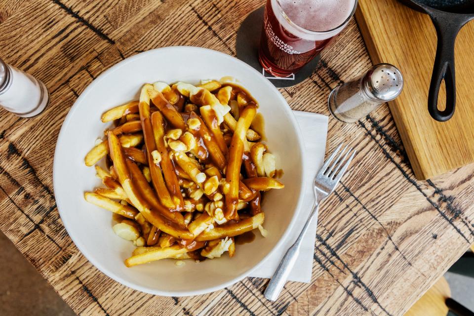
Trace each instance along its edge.
<instances>
[{"instance_id":1,"label":"black cast iron pan resting on the cutting board","mask_svg":"<svg viewBox=\"0 0 474 316\"><path fill-rule=\"evenodd\" d=\"M428 111L435 120L447 121L453 116L456 106L454 43L459 30L474 19L474 0L399 1L412 9L430 15L435 24L438 45L428 93ZM438 110L438 94L443 79L446 86L446 108L440 111Z\"/></svg>"}]
</instances>

